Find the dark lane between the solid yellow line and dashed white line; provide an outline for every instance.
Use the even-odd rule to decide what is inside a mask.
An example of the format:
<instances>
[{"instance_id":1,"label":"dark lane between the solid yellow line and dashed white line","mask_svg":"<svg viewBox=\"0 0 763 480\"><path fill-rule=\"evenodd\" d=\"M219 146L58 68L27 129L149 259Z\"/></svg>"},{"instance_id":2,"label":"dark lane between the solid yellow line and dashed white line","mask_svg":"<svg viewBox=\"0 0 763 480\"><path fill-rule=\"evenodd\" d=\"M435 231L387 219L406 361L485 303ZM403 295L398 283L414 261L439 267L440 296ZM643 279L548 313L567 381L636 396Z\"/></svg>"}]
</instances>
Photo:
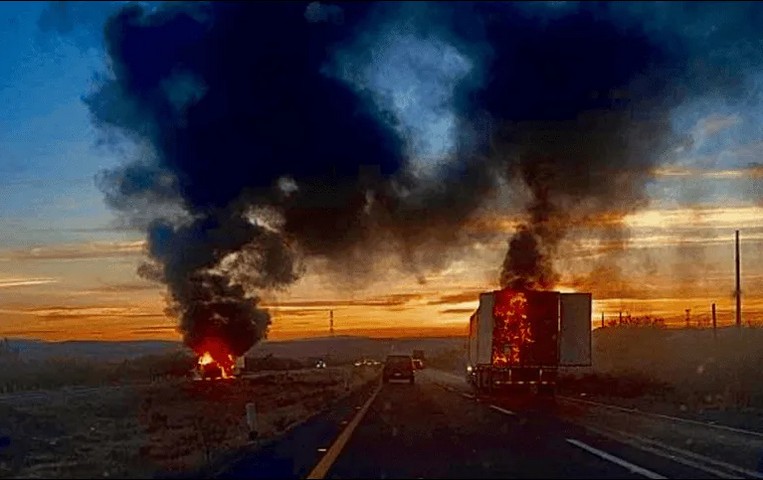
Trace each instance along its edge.
<instances>
[{"instance_id":1,"label":"dark lane between the solid yellow line and dashed white line","mask_svg":"<svg viewBox=\"0 0 763 480\"><path fill-rule=\"evenodd\" d=\"M327 478L644 478L568 441L584 436L553 419L515 418L419 375L414 385L383 386Z\"/></svg>"}]
</instances>

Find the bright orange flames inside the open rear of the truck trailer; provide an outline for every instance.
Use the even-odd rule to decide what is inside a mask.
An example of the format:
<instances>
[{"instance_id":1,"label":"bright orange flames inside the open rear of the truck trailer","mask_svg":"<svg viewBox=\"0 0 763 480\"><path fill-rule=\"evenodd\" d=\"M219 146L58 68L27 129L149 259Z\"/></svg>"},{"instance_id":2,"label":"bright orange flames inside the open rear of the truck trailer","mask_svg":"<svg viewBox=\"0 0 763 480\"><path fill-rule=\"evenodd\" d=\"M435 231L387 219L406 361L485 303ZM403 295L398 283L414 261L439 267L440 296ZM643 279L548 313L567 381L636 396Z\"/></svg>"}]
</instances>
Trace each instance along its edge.
<instances>
[{"instance_id":1,"label":"bright orange flames inside the open rear of the truck trailer","mask_svg":"<svg viewBox=\"0 0 763 480\"><path fill-rule=\"evenodd\" d=\"M527 315L527 296L512 290L497 292L493 317L495 318L493 364L520 363L522 352L526 351L527 346L533 342Z\"/></svg>"}]
</instances>

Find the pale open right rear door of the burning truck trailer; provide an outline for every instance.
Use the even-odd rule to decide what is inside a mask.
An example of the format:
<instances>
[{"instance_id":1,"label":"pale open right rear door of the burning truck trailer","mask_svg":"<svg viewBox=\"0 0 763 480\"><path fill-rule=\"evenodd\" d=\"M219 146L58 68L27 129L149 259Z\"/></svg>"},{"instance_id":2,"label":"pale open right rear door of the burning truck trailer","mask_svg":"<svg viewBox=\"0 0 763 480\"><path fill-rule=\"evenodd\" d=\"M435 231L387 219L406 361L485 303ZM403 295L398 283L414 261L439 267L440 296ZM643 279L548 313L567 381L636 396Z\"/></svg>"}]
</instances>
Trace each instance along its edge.
<instances>
[{"instance_id":1,"label":"pale open right rear door of the burning truck trailer","mask_svg":"<svg viewBox=\"0 0 763 480\"><path fill-rule=\"evenodd\" d=\"M591 365L591 294L562 293L560 299L559 365Z\"/></svg>"}]
</instances>

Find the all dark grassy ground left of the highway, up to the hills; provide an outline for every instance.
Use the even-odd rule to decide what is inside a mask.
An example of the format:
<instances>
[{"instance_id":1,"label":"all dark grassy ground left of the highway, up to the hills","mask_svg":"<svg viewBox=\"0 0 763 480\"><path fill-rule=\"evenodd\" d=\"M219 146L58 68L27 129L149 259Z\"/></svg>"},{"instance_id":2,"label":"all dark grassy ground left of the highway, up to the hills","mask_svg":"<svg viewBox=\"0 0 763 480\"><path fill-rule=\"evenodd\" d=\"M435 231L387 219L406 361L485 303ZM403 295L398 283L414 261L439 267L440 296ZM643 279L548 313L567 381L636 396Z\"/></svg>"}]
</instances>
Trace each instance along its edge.
<instances>
[{"instance_id":1,"label":"all dark grassy ground left of the highway, up to the hills","mask_svg":"<svg viewBox=\"0 0 763 480\"><path fill-rule=\"evenodd\" d=\"M255 404L258 438L266 440L378 376L352 367L293 370L302 364L271 357L246 378L193 381L194 359L174 353L100 364L28 362L6 352L0 362L0 478L203 470L250 442L247 403ZM74 386L83 388L67 388Z\"/></svg>"}]
</instances>

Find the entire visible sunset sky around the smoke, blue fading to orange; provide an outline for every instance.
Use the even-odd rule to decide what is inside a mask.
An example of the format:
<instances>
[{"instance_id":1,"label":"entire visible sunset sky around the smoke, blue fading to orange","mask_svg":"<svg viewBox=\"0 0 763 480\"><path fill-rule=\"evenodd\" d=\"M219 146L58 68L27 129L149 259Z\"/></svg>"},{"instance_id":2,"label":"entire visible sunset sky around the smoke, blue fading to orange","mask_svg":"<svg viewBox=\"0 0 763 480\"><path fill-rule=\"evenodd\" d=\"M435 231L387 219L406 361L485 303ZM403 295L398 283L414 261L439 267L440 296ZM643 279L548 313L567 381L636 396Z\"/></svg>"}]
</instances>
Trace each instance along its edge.
<instances>
[{"instance_id":1,"label":"entire visible sunset sky around the smoke, blue fading to orange","mask_svg":"<svg viewBox=\"0 0 763 480\"><path fill-rule=\"evenodd\" d=\"M122 161L99 143L82 100L106 65L103 22L119 8L120 2L72 5L66 23L47 3L0 4L0 336L179 338L176 320L163 313L165 287L136 274L145 233L120 223L94 182ZM739 19L717 21L728 26ZM449 78L468 71L447 45L435 44L430 53L427 61L448 69ZM558 288L591 291L596 325L602 313L613 318L621 310L681 324L691 309L693 319L707 319L713 302L719 323L730 324L737 229L744 321L763 322L760 72L741 79L744 101L708 91L671 111L673 128L690 141L676 144L669 162L651 171L649 203L625 216L624 229L597 219L561 243ZM393 89L393 97L395 88L424 95L415 88L420 79L370 75L370 88ZM452 113L413 103L419 107L398 110L399 121L429 139L411 155L420 168L435 168L437 160L427 159L450 148ZM465 228L474 241L443 268L414 274L390 268L373 281L360 275L353 281L307 258L295 284L262 294L273 321L269 338L326 335L330 310L338 334L464 334L478 293L499 287L507 240L523 219L521 209L505 206L512 188L473 215ZM617 233L609 242L601 240L607 229Z\"/></svg>"}]
</instances>

